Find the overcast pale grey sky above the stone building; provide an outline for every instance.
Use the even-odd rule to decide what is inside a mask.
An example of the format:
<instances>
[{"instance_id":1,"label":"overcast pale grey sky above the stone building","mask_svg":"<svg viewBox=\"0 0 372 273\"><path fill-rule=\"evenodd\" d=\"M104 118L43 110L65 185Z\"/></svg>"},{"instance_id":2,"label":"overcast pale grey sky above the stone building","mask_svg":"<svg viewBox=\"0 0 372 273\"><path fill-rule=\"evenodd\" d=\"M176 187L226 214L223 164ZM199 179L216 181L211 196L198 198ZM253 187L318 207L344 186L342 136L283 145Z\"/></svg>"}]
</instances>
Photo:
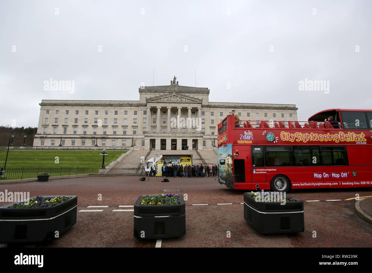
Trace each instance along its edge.
<instances>
[{"instance_id":1,"label":"overcast pale grey sky above the stone building","mask_svg":"<svg viewBox=\"0 0 372 273\"><path fill-rule=\"evenodd\" d=\"M301 121L371 109L371 10L372 1L0 0L0 125L38 126L43 99L139 100L153 68L155 85L176 75L195 86L196 69L210 101L296 104ZM45 91L50 78L74 81L74 93ZM329 81L328 94L299 90L305 78Z\"/></svg>"}]
</instances>

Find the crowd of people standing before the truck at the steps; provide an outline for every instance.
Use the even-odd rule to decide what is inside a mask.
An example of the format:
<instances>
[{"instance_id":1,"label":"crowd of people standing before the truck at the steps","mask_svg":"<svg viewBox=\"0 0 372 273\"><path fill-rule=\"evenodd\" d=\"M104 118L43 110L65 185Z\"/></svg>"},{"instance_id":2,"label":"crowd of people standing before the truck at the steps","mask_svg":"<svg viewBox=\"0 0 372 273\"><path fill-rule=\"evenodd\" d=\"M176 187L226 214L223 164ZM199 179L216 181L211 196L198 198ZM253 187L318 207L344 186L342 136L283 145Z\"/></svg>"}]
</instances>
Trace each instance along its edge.
<instances>
[{"instance_id":1,"label":"crowd of people standing before the truck at the steps","mask_svg":"<svg viewBox=\"0 0 372 273\"><path fill-rule=\"evenodd\" d=\"M161 167L161 175L163 177L206 177L217 176L218 166L217 164L212 164L211 166L207 164L200 165L163 165Z\"/></svg>"}]
</instances>

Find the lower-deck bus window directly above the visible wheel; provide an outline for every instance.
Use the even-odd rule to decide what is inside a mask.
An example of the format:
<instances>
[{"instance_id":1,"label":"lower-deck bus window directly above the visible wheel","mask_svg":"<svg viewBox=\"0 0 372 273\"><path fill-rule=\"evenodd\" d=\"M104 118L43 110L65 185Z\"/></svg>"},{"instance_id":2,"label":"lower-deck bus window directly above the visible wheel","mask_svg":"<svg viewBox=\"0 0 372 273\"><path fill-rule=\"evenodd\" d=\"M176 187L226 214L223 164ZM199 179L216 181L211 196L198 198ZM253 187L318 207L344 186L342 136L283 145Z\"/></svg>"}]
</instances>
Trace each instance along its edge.
<instances>
[{"instance_id":1,"label":"lower-deck bus window directly above the visible wheel","mask_svg":"<svg viewBox=\"0 0 372 273\"><path fill-rule=\"evenodd\" d=\"M266 166L293 166L292 146L267 146Z\"/></svg>"}]
</instances>

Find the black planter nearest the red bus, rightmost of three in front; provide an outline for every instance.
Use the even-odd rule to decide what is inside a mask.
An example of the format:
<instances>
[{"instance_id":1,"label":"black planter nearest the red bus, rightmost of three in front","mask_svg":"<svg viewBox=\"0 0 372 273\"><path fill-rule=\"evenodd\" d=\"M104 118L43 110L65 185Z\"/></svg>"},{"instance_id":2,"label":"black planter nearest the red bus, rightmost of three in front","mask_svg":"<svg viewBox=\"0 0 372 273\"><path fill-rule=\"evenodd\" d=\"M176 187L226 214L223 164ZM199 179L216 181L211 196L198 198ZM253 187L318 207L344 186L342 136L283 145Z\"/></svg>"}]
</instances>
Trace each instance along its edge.
<instances>
[{"instance_id":1,"label":"black planter nearest the red bus, rightmost of three in front","mask_svg":"<svg viewBox=\"0 0 372 273\"><path fill-rule=\"evenodd\" d=\"M280 202L256 202L248 192L244 193L244 219L264 234L304 232L304 201L288 197L296 201L286 202L285 205L280 205Z\"/></svg>"}]
</instances>

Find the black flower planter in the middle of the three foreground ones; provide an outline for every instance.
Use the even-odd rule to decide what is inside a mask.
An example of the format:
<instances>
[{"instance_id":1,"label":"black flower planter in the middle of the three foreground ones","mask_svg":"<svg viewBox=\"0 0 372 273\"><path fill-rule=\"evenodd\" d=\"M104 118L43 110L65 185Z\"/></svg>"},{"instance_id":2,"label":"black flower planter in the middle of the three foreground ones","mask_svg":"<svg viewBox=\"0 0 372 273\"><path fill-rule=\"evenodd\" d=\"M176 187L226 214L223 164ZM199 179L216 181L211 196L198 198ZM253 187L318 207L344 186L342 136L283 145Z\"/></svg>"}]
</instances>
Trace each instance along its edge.
<instances>
[{"instance_id":1,"label":"black flower planter in the middle of the three foreground ones","mask_svg":"<svg viewBox=\"0 0 372 273\"><path fill-rule=\"evenodd\" d=\"M134 204L134 238L165 239L186 234L186 208L182 195L178 195L178 205L140 206L145 196L141 195Z\"/></svg>"}]
</instances>

